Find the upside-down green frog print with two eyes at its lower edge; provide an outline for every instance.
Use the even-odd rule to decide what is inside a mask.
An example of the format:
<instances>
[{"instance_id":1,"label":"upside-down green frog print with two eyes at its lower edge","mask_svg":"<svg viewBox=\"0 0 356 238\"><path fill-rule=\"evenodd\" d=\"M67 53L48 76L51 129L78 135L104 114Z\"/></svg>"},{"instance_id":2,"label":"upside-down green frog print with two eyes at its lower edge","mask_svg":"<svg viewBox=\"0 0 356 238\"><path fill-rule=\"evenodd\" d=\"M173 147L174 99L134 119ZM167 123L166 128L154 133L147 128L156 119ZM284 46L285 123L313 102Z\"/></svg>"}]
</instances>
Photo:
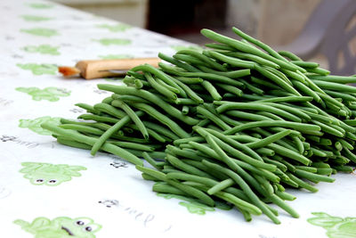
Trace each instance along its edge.
<instances>
[{"instance_id":1,"label":"upside-down green frog print with two eyes at its lower edge","mask_svg":"<svg viewBox=\"0 0 356 238\"><path fill-rule=\"evenodd\" d=\"M86 170L83 166L69 166L67 164L50 164L38 162L23 162L24 168L20 173L25 174L32 185L57 186L63 182L70 181L72 176L81 176L78 172Z\"/></svg>"}]
</instances>

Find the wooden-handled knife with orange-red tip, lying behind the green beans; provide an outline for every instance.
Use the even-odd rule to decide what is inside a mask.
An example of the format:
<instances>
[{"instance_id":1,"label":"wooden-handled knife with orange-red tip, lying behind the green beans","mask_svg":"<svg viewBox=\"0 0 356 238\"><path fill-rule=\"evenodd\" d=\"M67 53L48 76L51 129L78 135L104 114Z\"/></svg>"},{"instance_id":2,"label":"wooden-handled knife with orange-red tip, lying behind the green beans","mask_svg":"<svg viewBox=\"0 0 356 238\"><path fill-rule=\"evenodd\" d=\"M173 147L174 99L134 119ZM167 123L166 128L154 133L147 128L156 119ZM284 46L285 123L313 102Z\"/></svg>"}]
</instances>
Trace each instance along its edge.
<instances>
[{"instance_id":1,"label":"wooden-handled knife with orange-red tip, lying behind the green beans","mask_svg":"<svg viewBox=\"0 0 356 238\"><path fill-rule=\"evenodd\" d=\"M64 77L80 75L85 79L105 78L125 75L127 70L145 63L157 68L160 61L159 58L80 61L75 67L60 66L58 70Z\"/></svg>"}]
</instances>

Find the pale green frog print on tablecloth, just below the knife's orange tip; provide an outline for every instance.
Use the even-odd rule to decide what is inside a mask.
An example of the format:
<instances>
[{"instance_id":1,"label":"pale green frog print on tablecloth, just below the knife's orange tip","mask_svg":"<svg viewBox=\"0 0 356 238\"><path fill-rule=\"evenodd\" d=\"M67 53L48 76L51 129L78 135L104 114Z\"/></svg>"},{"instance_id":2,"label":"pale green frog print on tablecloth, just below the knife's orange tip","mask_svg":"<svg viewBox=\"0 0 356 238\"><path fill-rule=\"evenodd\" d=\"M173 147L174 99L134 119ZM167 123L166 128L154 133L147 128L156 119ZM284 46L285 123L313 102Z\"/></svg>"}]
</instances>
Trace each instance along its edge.
<instances>
[{"instance_id":1,"label":"pale green frog print on tablecloth, just below the knife's orange tip","mask_svg":"<svg viewBox=\"0 0 356 238\"><path fill-rule=\"evenodd\" d=\"M65 88L58 88L54 86L48 86L44 89L38 87L16 87L16 90L22 93L26 93L32 96L35 101L47 100L50 102L56 102L60 100L60 96L69 96L70 91Z\"/></svg>"}]
</instances>

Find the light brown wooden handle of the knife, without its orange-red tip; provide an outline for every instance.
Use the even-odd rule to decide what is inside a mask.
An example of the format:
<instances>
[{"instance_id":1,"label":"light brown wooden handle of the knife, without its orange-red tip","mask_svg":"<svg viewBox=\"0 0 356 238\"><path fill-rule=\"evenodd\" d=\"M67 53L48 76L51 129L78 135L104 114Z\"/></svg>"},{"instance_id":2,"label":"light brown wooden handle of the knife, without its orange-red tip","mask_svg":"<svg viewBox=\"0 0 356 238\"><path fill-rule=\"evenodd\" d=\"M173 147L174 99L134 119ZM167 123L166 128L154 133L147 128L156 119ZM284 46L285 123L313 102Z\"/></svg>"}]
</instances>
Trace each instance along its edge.
<instances>
[{"instance_id":1,"label":"light brown wooden handle of the knife, without its orange-red tip","mask_svg":"<svg viewBox=\"0 0 356 238\"><path fill-rule=\"evenodd\" d=\"M148 63L153 67L158 67L158 58L136 58L121 60L100 60L77 62L76 68L80 70L80 75L85 79L105 78L117 76L108 70L130 70L137 65Z\"/></svg>"}]
</instances>

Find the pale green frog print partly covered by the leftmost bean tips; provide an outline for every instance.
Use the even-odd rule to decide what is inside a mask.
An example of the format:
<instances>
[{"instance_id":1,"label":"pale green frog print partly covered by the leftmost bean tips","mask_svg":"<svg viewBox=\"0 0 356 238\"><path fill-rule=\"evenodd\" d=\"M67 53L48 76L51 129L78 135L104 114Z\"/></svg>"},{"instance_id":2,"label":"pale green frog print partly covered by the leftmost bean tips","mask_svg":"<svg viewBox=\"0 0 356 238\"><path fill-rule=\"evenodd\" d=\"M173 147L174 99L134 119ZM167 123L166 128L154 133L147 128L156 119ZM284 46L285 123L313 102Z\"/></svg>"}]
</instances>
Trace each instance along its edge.
<instances>
[{"instance_id":1,"label":"pale green frog print partly covered by the leftmost bean tips","mask_svg":"<svg viewBox=\"0 0 356 238\"><path fill-rule=\"evenodd\" d=\"M61 124L61 118L51 118L48 116L37 118L37 119L20 119L19 127L28 128L39 135L52 135L49 130L41 127L44 122L51 122L54 125Z\"/></svg>"}]
</instances>

